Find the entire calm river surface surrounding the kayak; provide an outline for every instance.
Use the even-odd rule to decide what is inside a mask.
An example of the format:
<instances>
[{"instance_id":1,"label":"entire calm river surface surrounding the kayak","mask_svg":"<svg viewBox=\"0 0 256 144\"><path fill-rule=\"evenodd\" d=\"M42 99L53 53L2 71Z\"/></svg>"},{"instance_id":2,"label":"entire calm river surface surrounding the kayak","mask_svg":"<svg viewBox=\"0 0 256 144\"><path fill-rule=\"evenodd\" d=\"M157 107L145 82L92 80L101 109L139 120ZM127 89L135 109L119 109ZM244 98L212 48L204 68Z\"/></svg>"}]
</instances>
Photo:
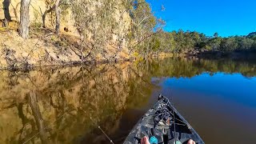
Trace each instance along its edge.
<instances>
[{"instance_id":1,"label":"entire calm river surface surrounding the kayak","mask_svg":"<svg viewBox=\"0 0 256 144\"><path fill-rule=\"evenodd\" d=\"M110 143L98 126L122 143L160 93L206 143L256 142L256 62L166 58L0 73L0 143Z\"/></svg>"}]
</instances>

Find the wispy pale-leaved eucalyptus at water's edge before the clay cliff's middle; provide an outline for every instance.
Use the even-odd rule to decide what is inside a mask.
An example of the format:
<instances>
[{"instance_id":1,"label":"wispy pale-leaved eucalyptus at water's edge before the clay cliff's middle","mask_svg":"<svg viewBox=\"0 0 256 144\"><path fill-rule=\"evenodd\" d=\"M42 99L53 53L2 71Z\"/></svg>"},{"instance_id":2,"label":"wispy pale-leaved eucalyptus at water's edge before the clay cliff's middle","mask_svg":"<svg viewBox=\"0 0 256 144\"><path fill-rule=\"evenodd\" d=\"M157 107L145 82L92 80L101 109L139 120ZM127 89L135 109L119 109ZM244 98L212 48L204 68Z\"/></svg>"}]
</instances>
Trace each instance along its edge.
<instances>
[{"instance_id":1,"label":"wispy pale-leaved eucalyptus at water's edge before the clay cliff's middle","mask_svg":"<svg viewBox=\"0 0 256 144\"><path fill-rule=\"evenodd\" d=\"M108 52L103 47L108 46L113 36L115 21L114 0L74 0L71 2L75 26L80 34L80 58L94 58L102 54L109 58Z\"/></svg>"}]
</instances>

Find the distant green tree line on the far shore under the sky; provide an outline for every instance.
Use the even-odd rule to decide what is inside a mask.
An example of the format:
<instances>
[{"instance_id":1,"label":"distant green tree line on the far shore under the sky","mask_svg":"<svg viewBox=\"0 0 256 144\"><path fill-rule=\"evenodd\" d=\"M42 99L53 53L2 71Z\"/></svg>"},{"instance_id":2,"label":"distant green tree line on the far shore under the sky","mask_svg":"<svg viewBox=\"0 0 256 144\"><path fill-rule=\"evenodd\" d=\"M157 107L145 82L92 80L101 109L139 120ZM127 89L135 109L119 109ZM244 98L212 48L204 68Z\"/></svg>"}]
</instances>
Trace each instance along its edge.
<instances>
[{"instance_id":1,"label":"distant green tree line on the far shore under the sky","mask_svg":"<svg viewBox=\"0 0 256 144\"><path fill-rule=\"evenodd\" d=\"M150 50L171 53L186 53L190 50L256 51L256 32L247 36L222 38L218 33L207 37L196 31L162 31L150 38Z\"/></svg>"}]
</instances>

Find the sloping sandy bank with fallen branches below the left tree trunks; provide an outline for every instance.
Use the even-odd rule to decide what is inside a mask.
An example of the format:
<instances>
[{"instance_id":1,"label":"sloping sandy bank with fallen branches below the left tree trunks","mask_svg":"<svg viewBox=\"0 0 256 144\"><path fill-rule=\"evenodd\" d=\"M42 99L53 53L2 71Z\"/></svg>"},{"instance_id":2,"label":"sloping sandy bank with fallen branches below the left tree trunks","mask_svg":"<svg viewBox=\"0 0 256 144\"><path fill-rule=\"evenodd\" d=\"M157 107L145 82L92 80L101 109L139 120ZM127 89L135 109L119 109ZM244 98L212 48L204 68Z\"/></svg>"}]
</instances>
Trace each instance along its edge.
<instances>
[{"instance_id":1,"label":"sloping sandy bank with fallen branches below the left tree trunks","mask_svg":"<svg viewBox=\"0 0 256 144\"><path fill-rule=\"evenodd\" d=\"M81 48L78 36L53 30L34 29L29 39L18 36L15 30L0 31L0 70L32 69L37 66L75 66L91 63L132 61L126 48L115 50L106 46L103 52L92 52L93 47ZM82 50L81 50L82 49Z\"/></svg>"}]
</instances>

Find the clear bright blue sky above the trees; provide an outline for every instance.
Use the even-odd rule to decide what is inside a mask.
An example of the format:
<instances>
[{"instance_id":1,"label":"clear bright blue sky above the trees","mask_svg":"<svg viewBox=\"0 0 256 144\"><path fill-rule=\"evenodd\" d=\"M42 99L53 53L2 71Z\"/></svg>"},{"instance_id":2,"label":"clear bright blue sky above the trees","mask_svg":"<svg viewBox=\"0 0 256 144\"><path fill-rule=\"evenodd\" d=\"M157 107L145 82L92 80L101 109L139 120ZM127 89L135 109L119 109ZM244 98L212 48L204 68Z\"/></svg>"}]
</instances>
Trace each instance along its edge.
<instances>
[{"instance_id":1,"label":"clear bright blue sky above the trees","mask_svg":"<svg viewBox=\"0 0 256 144\"><path fill-rule=\"evenodd\" d=\"M146 0L164 30L190 30L207 36L247 35L256 31L256 0ZM162 5L165 10L162 11Z\"/></svg>"}]
</instances>

